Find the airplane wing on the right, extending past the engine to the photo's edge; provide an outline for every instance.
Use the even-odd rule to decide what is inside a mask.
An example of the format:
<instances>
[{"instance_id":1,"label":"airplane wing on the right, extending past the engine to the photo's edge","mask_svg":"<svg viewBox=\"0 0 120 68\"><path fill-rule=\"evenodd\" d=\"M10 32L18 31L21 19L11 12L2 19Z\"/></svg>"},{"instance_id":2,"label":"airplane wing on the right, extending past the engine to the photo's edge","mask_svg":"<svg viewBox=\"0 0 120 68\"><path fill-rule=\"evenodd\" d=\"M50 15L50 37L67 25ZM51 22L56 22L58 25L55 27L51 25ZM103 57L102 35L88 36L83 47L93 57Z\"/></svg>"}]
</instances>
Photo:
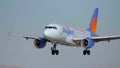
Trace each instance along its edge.
<instances>
[{"instance_id":1,"label":"airplane wing on the right, extending past the engine to the photo's edge","mask_svg":"<svg viewBox=\"0 0 120 68\"><path fill-rule=\"evenodd\" d=\"M108 41L108 42L110 42L110 40L120 39L120 35L105 36L105 37L90 37L90 39L94 40L95 42L101 42L101 41ZM73 41L78 41L78 40L83 40L83 38L75 38L75 39L73 39Z\"/></svg>"}]
</instances>

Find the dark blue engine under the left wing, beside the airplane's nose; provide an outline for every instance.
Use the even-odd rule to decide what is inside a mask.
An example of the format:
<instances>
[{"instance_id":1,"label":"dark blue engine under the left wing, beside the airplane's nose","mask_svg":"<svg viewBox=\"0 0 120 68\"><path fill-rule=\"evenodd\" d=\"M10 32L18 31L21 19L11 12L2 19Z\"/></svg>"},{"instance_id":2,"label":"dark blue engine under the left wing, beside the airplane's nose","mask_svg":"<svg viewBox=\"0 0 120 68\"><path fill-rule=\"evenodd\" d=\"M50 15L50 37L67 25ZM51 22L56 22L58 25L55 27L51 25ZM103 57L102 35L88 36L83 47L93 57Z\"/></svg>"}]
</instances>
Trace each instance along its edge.
<instances>
[{"instance_id":1,"label":"dark blue engine under the left wing, beside the airplane's nose","mask_svg":"<svg viewBox=\"0 0 120 68\"><path fill-rule=\"evenodd\" d=\"M45 38L38 38L34 40L34 45L37 48L44 48L46 46L47 40Z\"/></svg>"}]
</instances>

